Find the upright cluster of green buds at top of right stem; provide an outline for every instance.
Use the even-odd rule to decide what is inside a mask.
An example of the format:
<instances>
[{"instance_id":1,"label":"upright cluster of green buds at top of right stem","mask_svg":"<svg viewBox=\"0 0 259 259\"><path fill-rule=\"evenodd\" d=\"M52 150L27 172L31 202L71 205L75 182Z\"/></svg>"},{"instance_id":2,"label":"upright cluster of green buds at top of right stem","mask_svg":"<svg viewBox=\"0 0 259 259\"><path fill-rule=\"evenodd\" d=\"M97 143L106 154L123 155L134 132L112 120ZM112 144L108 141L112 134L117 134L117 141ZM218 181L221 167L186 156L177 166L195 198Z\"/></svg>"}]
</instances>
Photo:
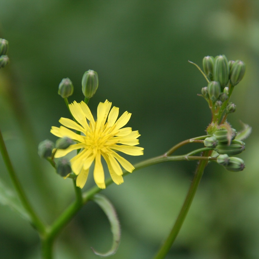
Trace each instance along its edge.
<instances>
[{"instance_id":1,"label":"upright cluster of green buds at top of right stem","mask_svg":"<svg viewBox=\"0 0 259 259\"><path fill-rule=\"evenodd\" d=\"M246 66L243 61L228 61L225 55L215 58L206 56L203 58L203 70L207 76L207 87L202 88L202 95L212 102L215 107L229 99L229 87L237 85L243 78ZM235 105L226 109L227 113L235 111Z\"/></svg>"}]
</instances>

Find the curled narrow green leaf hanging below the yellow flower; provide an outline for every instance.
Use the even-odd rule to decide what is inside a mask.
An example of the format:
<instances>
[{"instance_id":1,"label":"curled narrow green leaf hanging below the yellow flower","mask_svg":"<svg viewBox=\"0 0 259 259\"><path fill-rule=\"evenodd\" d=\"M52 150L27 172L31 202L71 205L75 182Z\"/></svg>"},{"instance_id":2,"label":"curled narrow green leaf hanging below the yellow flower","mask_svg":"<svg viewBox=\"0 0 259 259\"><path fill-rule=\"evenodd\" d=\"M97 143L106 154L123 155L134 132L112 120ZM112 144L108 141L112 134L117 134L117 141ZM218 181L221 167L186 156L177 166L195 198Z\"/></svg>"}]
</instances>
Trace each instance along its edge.
<instances>
[{"instance_id":1,"label":"curled narrow green leaf hanging below the yellow flower","mask_svg":"<svg viewBox=\"0 0 259 259\"><path fill-rule=\"evenodd\" d=\"M120 223L119 223L116 211L112 203L105 196L101 194L96 194L95 196L93 196L92 200L95 203L97 203L100 206L100 208L103 210L103 212L106 214L111 224L111 232L113 235L113 244L111 249L107 253L101 254L96 252L93 248L92 250L96 255L100 255L103 257L113 255L116 253L120 242Z\"/></svg>"}]
</instances>

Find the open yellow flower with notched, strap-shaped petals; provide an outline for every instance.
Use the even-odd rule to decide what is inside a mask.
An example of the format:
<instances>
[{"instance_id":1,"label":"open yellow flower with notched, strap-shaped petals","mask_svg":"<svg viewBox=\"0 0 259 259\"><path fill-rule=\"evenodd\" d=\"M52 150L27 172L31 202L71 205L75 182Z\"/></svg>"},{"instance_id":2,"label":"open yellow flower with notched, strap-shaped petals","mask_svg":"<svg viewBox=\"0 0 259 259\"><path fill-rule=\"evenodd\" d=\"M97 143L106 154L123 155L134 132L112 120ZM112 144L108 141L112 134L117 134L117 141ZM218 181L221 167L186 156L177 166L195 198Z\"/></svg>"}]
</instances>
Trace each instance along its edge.
<instances>
[{"instance_id":1,"label":"open yellow flower with notched, strap-shaped petals","mask_svg":"<svg viewBox=\"0 0 259 259\"><path fill-rule=\"evenodd\" d=\"M139 132L132 131L130 127L122 128L129 121L131 113L126 111L117 120L119 108L113 106L111 109L111 105L107 100L104 103L99 103L97 107L97 120L95 121L87 104L83 101L81 103L74 101L69 104L69 109L78 123L67 118L60 118L59 122L65 127L51 128L51 133L55 136L59 138L69 137L77 142L67 149L58 149L55 157L62 157L73 150L81 149L70 160L72 170L77 175L76 185L80 188L84 187L89 168L92 162L95 161L93 169L94 180L99 188L105 189L101 156L107 163L113 182L121 184L123 183L121 166L128 172L132 172L134 167L117 152L123 152L132 156L143 155L143 148L135 147L135 145L139 144L137 139L140 136ZM82 133L81 135L76 134L68 128Z\"/></svg>"}]
</instances>

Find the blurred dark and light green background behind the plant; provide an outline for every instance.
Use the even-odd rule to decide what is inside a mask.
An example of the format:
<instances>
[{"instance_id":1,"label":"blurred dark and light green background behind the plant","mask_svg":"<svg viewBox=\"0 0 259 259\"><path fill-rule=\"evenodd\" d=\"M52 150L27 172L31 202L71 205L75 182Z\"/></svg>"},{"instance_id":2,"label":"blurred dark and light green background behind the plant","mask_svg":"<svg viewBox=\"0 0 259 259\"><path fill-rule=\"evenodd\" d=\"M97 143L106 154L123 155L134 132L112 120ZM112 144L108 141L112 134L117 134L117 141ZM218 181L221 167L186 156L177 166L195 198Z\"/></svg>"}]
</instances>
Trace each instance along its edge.
<instances>
[{"instance_id":1,"label":"blurred dark and light green background behind the plant","mask_svg":"<svg viewBox=\"0 0 259 259\"><path fill-rule=\"evenodd\" d=\"M253 127L242 172L209 164L184 225L167 259L259 258L259 1L255 0L0 0L0 37L9 41L10 64L0 71L0 127L17 174L48 223L74 199L70 179L57 176L37 154L38 143L56 140L49 131L69 112L57 88L64 77L81 101L83 73L93 69L99 88L93 113L108 99L132 113L143 157L204 135L211 115L199 96L206 55L225 54L247 65L228 117ZM184 147L177 154L193 148ZM197 146L198 148L198 146ZM192 180L196 162L168 162L133 172L102 193L114 204L122 238L111 258L152 258L167 236ZM12 188L0 158L1 179ZM85 190L93 185L88 179ZM86 204L55 243L55 259L95 259L90 247L111 246L109 222ZM39 258L34 229L7 206L0 207L0 258Z\"/></svg>"}]
</instances>

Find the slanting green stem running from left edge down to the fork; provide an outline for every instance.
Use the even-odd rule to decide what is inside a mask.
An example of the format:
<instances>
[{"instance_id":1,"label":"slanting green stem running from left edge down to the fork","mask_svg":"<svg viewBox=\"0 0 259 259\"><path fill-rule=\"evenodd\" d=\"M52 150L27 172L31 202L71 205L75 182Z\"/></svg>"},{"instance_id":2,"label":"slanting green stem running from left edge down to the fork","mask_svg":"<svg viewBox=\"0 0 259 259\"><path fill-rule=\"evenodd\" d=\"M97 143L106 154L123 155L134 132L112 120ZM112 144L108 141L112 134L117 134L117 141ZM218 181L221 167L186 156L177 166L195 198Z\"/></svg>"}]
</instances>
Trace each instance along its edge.
<instances>
[{"instance_id":1,"label":"slanting green stem running from left edge down to the fork","mask_svg":"<svg viewBox=\"0 0 259 259\"><path fill-rule=\"evenodd\" d=\"M29 201L25 195L23 188L21 187L21 184L18 180L15 170L13 169L10 157L8 155L1 130L0 130L0 151L1 151L4 163L5 163L5 166L9 172L12 183L15 186L17 194L21 200L21 203L23 204L23 207L25 208L26 212L29 214L29 216L31 218L31 223L38 230L39 234L44 236L45 235L45 225L40 220L38 215L34 212L31 204L29 203Z\"/></svg>"}]
</instances>

